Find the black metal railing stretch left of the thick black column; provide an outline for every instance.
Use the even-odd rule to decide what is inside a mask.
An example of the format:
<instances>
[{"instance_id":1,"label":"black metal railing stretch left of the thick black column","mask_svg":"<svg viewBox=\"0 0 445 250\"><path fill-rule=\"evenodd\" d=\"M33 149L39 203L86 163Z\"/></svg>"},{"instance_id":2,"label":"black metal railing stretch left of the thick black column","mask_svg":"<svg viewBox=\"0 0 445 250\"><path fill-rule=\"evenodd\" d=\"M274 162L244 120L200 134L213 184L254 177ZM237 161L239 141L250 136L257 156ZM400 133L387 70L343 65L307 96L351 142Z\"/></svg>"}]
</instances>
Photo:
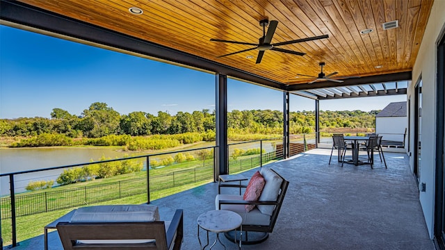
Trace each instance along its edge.
<instances>
[{"instance_id":1,"label":"black metal railing stretch left of the thick black column","mask_svg":"<svg viewBox=\"0 0 445 250\"><path fill-rule=\"evenodd\" d=\"M216 147L186 149L174 152L154 153L145 156L132 156L128 158L102 160L92 163L81 163L0 174L0 177L7 176L10 182L10 195L0 198L0 217L2 224L1 234L3 242L6 244L12 243L13 246L17 245L17 225L26 226L27 222L38 223L30 217L33 215L35 216L41 213L52 213L53 211L63 211L63 209L67 208L76 208L92 203L122 199L124 197L130 197L138 194L147 194L147 203L149 203L150 193L152 192L160 192L169 188L178 188L193 183L202 183L202 181L211 182L213 181L215 148ZM15 181L15 176L18 175L26 175L35 172L54 173L54 169L59 169L60 172L62 172L63 169L81 168L85 166L104 165L118 162L121 162L122 166L124 165L128 167L128 161L134 159L143 160L146 169L151 169L151 161L163 163L162 160L165 158L173 158L172 156L175 156L176 154L191 153L192 151L196 151L196 153L194 153L195 156L189 159L189 161L192 163L196 162L196 164L193 163L193 166L189 167L189 169L173 171L169 172L168 174L153 174L153 176L150 176L149 173L151 171L144 171L145 176L141 176L140 178L131 178L129 180L115 181L113 183L84 185L80 188L68 188L63 190L49 189L48 191L38 190L35 192L16 192L17 188L15 185L17 181ZM204 152L205 155L203 153L198 153L198 151ZM200 156L203 156L204 158L200 158ZM170 160L166 162L168 162L168 164L171 163ZM156 169L154 169L154 172L156 172ZM91 177L85 177L83 178L83 181L87 182L88 178ZM32 178L26 178L26 181L32 181ZM19 188L22 188L22 186ZM157 194L156 197L162 197L162 195L163 194ZM42 221L44 221L44 219L42 219ZM42 226L44 226L44 224ZM38 227L35 230L40 232L40 229L41 227ZM28 237L26 235L32 237L33 233L31 233L31 231L32 229L29 227L26 227L26 230L21 230L19 235L21 240L25 240L26 237Z\"/></svg>"}]
</instances>

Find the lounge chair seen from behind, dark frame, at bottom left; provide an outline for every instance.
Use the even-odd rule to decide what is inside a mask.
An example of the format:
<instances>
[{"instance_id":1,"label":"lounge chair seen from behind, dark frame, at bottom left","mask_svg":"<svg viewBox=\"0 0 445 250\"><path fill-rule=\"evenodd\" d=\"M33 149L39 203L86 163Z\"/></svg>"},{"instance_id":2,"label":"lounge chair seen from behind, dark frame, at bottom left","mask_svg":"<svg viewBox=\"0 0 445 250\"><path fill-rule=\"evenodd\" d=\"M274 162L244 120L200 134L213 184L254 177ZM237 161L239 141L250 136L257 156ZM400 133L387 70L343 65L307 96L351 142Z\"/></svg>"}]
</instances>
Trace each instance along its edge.
<instances>
[{"instance_id":1,"label":"lounge chair seen from behind, dark frame, at bottom left","mask_svg":"<svg viewBox=\"0 0 445 250\"><path fill-rule=\"evenodd\" d=\"M81 208L76 212L79 210ZM79 216L76 218L76 215ZM59 222L56 227L65 250L181 249L183 211L176 210L171 222L153 220L158 218L143 210L89 210L86 213L81 210L73 215L71 222Z\"/></svg>"}]
</instances>

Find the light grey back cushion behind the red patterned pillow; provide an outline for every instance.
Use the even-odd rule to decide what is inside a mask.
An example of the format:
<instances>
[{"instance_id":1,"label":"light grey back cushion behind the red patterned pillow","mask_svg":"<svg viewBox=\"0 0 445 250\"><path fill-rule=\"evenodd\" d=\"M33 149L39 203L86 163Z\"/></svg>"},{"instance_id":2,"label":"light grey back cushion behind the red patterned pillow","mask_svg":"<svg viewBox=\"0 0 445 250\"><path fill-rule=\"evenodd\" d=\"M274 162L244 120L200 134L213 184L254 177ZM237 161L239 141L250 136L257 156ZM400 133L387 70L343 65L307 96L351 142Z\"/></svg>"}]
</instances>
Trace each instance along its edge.
<instances>
[{"instance_id":1,"label":"light grey back cushion behind the red patterned pillow","mask_svg":"<svg viewBox=\"0 0 445 250\"><path fill-rule=\"evenodd\" d=\"M259 172L266 184L264 184L263 191L261 192L261 196L259 197L259 201L276 201L278 194L280 194L280 187L283 179L275 174L272 170L261 167ZM258 205L257 208L266 215L272 215L273 210L275 209L274 205Z\"/></svg>"}]
</instances>

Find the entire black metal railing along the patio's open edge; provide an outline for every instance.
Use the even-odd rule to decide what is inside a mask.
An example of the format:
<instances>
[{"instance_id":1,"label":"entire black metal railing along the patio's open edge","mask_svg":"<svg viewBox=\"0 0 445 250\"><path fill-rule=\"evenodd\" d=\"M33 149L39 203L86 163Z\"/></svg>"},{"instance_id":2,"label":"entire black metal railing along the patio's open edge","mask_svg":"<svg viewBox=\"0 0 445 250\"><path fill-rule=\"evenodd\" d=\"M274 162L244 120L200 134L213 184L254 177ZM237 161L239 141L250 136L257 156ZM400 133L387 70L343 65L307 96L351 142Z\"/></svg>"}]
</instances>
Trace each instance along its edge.
<instances>
[{"instance_id":1,"label":"entire black metal railing along the patio's open edge","mask_svg":"<svg viewBox=\"0 0 445 250\"><path fill-rule=\"evenodd\" d=\"M292 137L290 142L291 155L314 148L316 145L314 140L314 134ZM302 146L300 144L302 144ZM3 242L6 244L12 243L13 246L17 245L17 224L19 224L19 226L26 226L26 224L42 223L40 226L35 226L35 231L27 226L26 230L20 230L20 240L25 240L26 238L38 235L41 228L45 224L51 222L49 221L45 223L45 219L41 219L42 222L36 222L33 217L40 216L40 214L48 214L48 216L44 216L48 217L46 219L51 219L51 216L57 218L60 217L60 213L61 215L66 213L65 211L67 209L86 206L92 203L124 199L125 197L132 197L140 194L147 194L146 200L147 203L149 203L150 195L154 192L156 192L155 197L159 198L178 192L177 188L185 187L186 185L214 181L215 149L216 147L204 147L200 149L187 149L0 174L0 177L7 176L10 182L10 195L0 198ZM236 155L236 153L234 154L236 149L238 149L238 155ZM284 158L282 138L233 143L227 145L227 150L229 151L229 174L244 172L248 169ZM192 151L195 152L192 153ZM179 153L182 153L183 156L177 156ZM193 167L179 171L168 171L168 174L157 173L157 169L172 164L172 161L177 164L175 162L176 160L179 161L179 159L185 159L186 156L184 156L184 153L186 156L189 156L189 153L195 156L195 158L191 158L196 161L196 164L194 164ZM174 158L175 160L173 160ZM35 192L22 193L16 192L15 176L18 175L34 172L48 172L51 173L51 176L54 176L54 169L59 169L61 172L63 169L91 165L106 165L118 162L121 162L121 165L131 167L131 164L128 163L129 160L138 160L138 164L145 165L145 169L148 171L143 171L144 174L141 174L138 178L133 177L129 180L114 181L112 183L83 185L81 187L60 190L54 188L54 190L38 190ZM187 159L184 161L187 161ZM89 178L91 177L86 176L82 181L87 183ZM26 181L31 180L32 177L26 178ZM22 186L19 188L22 188Z\"/></svg>"}]
</instances>

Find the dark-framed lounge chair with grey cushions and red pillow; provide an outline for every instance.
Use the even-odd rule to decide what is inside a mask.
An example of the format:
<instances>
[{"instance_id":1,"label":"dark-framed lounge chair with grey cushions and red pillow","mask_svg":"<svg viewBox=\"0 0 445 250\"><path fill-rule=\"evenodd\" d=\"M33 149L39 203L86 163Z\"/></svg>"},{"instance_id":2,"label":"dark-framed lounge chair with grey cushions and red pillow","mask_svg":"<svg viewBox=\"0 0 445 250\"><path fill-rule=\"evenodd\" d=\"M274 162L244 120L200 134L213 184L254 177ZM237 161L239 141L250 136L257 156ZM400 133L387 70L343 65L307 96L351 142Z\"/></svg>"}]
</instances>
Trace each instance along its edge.
<instances>
[{"instance_id":1,"label":"dark-framed lounge chair with grey cushions and red pillow","mask_svg":"<svg viewBox=\"0 0 445 250\"><path fill-rule=\"evenodd\" d=\"M265 185L261 191L258 201L245 201L243 195L218 194L215 199L216 210L231 210L243 218L242 242L243 244L257 244L268 238L277 222L278 214L286 194L289 181L266 167L261 167L261 176L264 177ZM246 185L240 185L246 188ZM231 185L233 188L234 185ZM255 205L246 212L245 205ZM240 235L234 232L225 233L226 238L238 241Z\"/></svg>"}]
</instances>

